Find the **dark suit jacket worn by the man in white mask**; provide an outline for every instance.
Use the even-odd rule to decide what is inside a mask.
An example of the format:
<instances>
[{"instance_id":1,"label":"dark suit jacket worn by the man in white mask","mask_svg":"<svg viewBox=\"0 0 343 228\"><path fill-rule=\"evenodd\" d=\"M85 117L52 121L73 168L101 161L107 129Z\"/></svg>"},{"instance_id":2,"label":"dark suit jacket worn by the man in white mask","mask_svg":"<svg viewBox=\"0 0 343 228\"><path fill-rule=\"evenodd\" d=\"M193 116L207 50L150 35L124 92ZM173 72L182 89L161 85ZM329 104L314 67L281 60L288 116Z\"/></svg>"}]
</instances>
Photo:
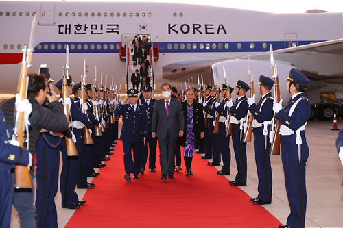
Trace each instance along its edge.
<instances>
[{"instance_id":1,"label":"dark suit jacket worn by the man in white mask","mask_svg":"<svg viewBox=\"0 0 343 228\"><path fill-rule=\"evenodd\" d=\"M181 102L171 98L169 115L165 110L165 99L159 99L155 103L154 114L152 115L152 132L157 138L166 138L167 131L170 137L177 138L178 132L185 128L185 118L183 117Z\"/></svg>"}]
</instances>

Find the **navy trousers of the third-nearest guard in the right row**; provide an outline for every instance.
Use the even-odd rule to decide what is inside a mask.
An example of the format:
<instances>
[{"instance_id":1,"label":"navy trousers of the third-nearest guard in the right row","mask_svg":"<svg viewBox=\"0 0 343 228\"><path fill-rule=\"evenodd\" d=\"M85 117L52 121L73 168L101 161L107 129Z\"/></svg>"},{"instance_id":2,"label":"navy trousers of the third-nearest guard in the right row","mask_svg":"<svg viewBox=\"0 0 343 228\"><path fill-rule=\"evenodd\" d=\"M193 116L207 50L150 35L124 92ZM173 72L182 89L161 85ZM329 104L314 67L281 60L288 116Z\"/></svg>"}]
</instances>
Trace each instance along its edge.
<instances>
[{"instance_id":1,"label":"navy trousers of the third-nearest guard in the right row","mask_svg":"<svg viewBox=\"0 0 343 228\"><path fill-rule=\"evenodd\" d=\"M237 175L235 181L246 183L246 143L243 143L244 134L241 134L239 124L233 124L233 149L235 150L235 158L237 164Z\"/></svg>"}]
</instances>

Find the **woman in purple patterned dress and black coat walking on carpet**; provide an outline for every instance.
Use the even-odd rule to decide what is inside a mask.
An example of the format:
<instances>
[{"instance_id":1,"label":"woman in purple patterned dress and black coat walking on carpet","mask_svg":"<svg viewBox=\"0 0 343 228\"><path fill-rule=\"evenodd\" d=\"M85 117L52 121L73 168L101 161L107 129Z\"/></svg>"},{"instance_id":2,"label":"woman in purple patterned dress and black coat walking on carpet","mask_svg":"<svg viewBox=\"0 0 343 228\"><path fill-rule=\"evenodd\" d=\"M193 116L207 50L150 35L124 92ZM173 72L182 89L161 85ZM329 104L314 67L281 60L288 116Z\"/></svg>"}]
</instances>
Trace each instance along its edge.
<instances>
[{"instance_id":1,"label":"woman in purple patterned dress and black coat walking on carpet","mask_svg":"<svg viewBox=\"0 0 343 228\"><path fill-rule=\"evenodd\" d=\"M204 113L202 112L202 105L194 98L194 90L188 88L186 91L186 101L182 102L182 110L185 117L184 129L186 129L186 132L181 138L178 138L178 145L183 147L187 177L193 175L191 162L194 148L204 144Z\"/></svg>"}]
</instances>

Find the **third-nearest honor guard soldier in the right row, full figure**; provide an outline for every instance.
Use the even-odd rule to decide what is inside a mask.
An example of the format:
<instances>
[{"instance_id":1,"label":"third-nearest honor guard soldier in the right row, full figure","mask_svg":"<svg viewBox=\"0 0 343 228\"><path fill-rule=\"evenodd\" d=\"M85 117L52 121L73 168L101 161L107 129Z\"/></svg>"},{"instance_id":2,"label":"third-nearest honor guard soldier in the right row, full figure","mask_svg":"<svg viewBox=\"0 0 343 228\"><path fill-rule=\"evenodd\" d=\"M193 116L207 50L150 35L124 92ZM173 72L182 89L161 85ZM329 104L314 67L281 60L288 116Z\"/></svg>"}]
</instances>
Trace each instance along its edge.
<instances>
[{"instance_id":1,"label":"third-nearest honor guard soldier in the right row, full figure","mask_svg":"<svg viewBox=\"0 0 343 228\"><path fill-rule=\"evenodd\" d=\"M237 175L235 181L230 181L231 186L246 186L246 143L244 139L243 123L248 113L248 102L246 101L246 92L250 87L246 82L238 80L235 93L238 95L235 105L232 99L226 103L231 113L230 123L233 123L233 149L237 164Z\"/></svg>"}]
</instances>

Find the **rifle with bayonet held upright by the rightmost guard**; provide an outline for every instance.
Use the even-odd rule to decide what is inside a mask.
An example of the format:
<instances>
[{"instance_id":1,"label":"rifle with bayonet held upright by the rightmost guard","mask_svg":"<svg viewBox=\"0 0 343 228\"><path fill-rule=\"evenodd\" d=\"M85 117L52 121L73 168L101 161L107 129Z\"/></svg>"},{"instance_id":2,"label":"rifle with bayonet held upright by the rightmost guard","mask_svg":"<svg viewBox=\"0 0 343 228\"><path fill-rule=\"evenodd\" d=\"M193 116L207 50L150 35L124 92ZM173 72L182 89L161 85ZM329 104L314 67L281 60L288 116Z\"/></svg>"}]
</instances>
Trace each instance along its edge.
<instances>
[{"instance_id":1,"label":"rifle with bayonet held upright by the rightmost guard","mask_svg":"<svg viewBox=\"0 0 343 228\"><path fill-rule=\"evenodd\" d=\"M274 96L275 102L279 103L281 100L280 86L279 86L279 77L277 74L277 67L274 66L274 55L273 47L270 44L270 64L272 65L272 77L274 78ZM272 140L272 145L270 147L270 155L280 155L280 127L281 123L276 119L276 113L274 112L274 117L272 120L272 131L274 131L274 136Z\"/></svg>"}]
</instances>

